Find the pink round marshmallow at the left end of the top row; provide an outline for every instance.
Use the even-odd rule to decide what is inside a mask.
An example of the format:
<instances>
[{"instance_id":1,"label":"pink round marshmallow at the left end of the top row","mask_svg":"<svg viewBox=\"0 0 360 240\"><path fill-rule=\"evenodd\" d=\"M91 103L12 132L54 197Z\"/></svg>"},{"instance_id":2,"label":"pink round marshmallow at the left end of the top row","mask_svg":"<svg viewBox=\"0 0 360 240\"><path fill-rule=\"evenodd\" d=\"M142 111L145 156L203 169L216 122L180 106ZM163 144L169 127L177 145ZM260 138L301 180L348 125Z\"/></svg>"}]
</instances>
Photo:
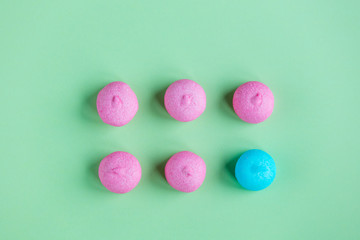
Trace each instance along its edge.
<instances>
[{"instance_id":1,"label":"pink round marshmallow at the left end of the top row","mask_svg":"<svg viewBox=\"0 0 360 240\"><path fill-rule=\"evenodd\" d=\"M96 106L104 123L121 127L135 116L139 105L133 90L124 82L112 82L98 94Z\"/></svg>"}]
</instances>

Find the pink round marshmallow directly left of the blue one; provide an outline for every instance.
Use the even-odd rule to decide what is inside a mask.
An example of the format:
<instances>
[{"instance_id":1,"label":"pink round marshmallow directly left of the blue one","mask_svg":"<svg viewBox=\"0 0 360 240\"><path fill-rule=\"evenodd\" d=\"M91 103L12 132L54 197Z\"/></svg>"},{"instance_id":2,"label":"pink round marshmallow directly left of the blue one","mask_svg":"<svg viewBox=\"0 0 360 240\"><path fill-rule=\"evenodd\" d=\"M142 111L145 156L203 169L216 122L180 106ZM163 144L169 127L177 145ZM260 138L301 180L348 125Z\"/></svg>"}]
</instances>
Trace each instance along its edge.
<instances>
[{"instance_id":1,"label":"pink round marshmallow directly left of the blue one","mask_svg":"<svg viewBox=\"0 0 360 240\"><path fill-rule=\"evenodd\" d=\"M198 189L205 175L204 160L188 151L174 154L165 166L166 180L173 188L181 192L193 192Z\"/></svg>"}]
</instances>

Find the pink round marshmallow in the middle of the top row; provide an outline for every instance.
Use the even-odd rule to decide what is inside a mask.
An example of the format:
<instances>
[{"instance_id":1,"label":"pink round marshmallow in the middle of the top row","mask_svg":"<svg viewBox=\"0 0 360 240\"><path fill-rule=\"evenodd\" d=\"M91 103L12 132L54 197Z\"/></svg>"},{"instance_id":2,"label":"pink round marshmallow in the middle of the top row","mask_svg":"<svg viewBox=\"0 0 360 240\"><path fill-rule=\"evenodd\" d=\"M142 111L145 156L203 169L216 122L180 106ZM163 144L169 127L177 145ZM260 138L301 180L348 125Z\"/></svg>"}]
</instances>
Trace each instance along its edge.
<instances>
[{"instance_id":1,"label":"pink round marshmallow in the middle of the top row","mask_svg":"<svg viewBox=\"0 0 360 240\"><path fill-rule=\"evenodd\" d=\"M168 87L164 102L166 110L173 118L181 122L189 122L204 112L206 95L198 83L181 79Z\"/></svg>"}]
</instances>

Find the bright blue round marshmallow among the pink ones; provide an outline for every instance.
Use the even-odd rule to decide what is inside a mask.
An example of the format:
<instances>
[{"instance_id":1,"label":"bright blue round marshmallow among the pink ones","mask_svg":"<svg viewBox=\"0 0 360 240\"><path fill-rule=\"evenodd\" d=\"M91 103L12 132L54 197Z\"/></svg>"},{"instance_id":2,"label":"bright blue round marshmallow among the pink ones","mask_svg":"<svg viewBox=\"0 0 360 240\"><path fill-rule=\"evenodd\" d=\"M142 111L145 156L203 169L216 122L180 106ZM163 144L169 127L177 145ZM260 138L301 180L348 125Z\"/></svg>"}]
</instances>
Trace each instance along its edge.
<instances>
[{"instance_id":1,"label":"bright blue round marshmallow among the pink ones","mask_svg":"<svg viewBox=\"0 0 360 240\"><path fill-rule=\"evenodd\" d=\"M267 188L276 175L272 157L264 151L253 149L241 155L235 166L235 177L241 186L258 191Z\"/></svg>"}]
</instances>

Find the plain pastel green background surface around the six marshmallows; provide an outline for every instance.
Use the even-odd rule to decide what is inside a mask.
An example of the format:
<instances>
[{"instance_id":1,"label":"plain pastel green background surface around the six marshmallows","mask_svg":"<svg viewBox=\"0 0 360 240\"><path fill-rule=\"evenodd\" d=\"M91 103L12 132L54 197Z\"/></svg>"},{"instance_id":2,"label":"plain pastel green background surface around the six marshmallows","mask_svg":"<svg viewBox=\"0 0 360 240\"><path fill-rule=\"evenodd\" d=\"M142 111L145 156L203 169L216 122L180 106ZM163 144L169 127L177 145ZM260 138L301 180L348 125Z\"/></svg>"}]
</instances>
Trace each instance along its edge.
<instances>
[{"instance_id":1,"label":"plain pastel green background surface around the six marshmallows","mask_svg":"<svg viewBox=\"0 0 360 240\"><path fill-rule=\"evenodd\" d=\"M360 2L0 2L0 239L360 239ZM207 109L189 123L163 108L189 78ZM139 111L101 122L95 100L127 82ZM242 122L237 86L262 81L272 116ZM277 176L242 189L234 161L259 148ZM163 166L193 151L207 164L190 194ZM97 166L128 151L143 176L108 192Z\"/></svg>"}]
</instances>

